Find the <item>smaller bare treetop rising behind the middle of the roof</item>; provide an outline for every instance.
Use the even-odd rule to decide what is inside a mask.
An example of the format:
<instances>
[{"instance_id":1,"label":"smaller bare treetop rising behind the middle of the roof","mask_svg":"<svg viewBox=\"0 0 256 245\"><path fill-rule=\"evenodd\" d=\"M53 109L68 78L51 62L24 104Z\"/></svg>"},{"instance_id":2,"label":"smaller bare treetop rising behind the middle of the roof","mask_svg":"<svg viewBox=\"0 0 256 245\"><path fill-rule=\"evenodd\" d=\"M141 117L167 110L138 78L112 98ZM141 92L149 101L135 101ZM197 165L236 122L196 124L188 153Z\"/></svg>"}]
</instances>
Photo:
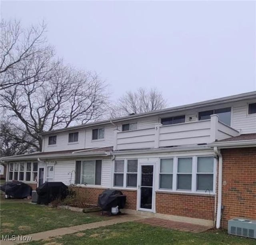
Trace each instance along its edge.
<instances>
[{"instance_id":1,"label":"smaller bare treetop rising behind the middle of the roof","mask_svg":"<svg viewBox=\"0 0 256 245\"><path fill-rule=\"evenodd\" d=\"M156 88L138 88L136 92L126 92L116 104L110 110L112 118L160 110L166 107L166 100Z\"/></svg>"}]
</instances>

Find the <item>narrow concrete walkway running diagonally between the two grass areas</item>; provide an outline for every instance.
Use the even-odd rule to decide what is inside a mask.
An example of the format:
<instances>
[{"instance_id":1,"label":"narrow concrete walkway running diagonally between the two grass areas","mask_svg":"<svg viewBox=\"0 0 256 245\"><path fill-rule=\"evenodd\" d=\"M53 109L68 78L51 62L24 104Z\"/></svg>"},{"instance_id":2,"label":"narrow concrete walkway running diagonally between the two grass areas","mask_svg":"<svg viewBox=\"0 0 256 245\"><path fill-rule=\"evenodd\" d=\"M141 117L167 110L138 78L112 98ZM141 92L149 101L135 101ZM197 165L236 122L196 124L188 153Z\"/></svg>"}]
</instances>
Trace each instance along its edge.
<instances>
[{"instance_id":1,"label":"narrow concrete walkway running diagonally between the two grass areas","mask_svg":"<svg viewBox=\"0 0 256 245\"><path fill-rule=\"evenodd\" d=\"M59 228L59 229L50 230L50 231L43 231L43 232L38 232L34 234L24 235L24 237L32 237L31 241L38 241L41 239L47 239L49 237L58 237L66 234L76 233L78 231L84 231L87 229L94 229L102 226L114 225L118 223L129 222L129 221L138 221L140 219L145 219L145 217L141 215L132 215L132 214L118 215L114 219L110 219L110 220L99 221L99 222L94 222L94 223L89 223L84 225L64 227L64 228ZM11 236L9 238L12 239ZM26 243L26 242L27 241L18 241L18 236L17 236L15 241L1 240L0 243L1 245L14 245L14 244L20 244L20 243Z\"/></svg>"}]
</instances>

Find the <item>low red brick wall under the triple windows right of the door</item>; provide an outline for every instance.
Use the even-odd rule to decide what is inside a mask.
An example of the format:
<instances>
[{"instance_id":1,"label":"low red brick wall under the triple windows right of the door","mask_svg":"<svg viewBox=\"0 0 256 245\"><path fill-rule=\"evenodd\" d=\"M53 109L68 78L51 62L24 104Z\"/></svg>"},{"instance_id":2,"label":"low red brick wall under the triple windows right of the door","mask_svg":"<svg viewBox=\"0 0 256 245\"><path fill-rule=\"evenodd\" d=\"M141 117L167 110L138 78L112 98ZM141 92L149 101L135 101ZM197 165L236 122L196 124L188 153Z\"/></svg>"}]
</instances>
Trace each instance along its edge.
<instances>
[{"instance_id":1,"label":"low red brick wall under the triple windows right of the door","mask_svg":"<svg viewBox=\"0 0 256 245\"><path fill-rule=\"evenodd\" d=\"M214 210L214 196L212 209ZM156 212L212 220L210 197L178 193L156 193Z\"/></svg>"}]
</instances>

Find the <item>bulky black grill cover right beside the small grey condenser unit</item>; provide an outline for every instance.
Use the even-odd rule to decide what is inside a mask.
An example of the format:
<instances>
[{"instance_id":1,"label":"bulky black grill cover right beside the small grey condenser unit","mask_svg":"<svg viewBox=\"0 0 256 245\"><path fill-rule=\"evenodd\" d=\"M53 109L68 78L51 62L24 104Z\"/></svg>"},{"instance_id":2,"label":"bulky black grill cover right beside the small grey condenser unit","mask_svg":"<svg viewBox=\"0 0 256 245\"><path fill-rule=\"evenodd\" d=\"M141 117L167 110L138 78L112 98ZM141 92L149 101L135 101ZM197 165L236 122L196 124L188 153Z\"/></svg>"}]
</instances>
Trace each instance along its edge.
<instances>
[{"instance_id":1,"label":"bulky black grill cover right beside the small grey condenser unit","mask_svg":"<svg viewBox=\"0 0 256 245\"><path fill-rule=\"evenodd\" d=\"M53 200L64 199L68 195L68 187L62 182L45 182L36 188L38 204L49 204Z\"/></svg>"}]
</instances>

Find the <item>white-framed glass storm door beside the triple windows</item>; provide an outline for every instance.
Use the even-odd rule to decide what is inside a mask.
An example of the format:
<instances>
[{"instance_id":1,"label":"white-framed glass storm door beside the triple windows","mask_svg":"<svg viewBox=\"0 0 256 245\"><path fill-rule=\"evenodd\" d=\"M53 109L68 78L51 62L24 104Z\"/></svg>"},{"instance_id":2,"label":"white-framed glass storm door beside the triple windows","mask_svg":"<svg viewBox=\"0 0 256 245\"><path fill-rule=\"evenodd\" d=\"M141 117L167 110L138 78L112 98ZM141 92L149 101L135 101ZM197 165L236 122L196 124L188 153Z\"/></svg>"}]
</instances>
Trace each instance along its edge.
<instances>
[{"instance_id":1,"label":"white-framed glass storm door beside the triple windows","mask_svg":"<svg viewBox=\"0 0 256 245\"><path fill-rule=\"evenodd\" d=\"M154 212L155 210L155 163L140 163L137 191L137 209Z\"/></svg>"}]
</instances>

